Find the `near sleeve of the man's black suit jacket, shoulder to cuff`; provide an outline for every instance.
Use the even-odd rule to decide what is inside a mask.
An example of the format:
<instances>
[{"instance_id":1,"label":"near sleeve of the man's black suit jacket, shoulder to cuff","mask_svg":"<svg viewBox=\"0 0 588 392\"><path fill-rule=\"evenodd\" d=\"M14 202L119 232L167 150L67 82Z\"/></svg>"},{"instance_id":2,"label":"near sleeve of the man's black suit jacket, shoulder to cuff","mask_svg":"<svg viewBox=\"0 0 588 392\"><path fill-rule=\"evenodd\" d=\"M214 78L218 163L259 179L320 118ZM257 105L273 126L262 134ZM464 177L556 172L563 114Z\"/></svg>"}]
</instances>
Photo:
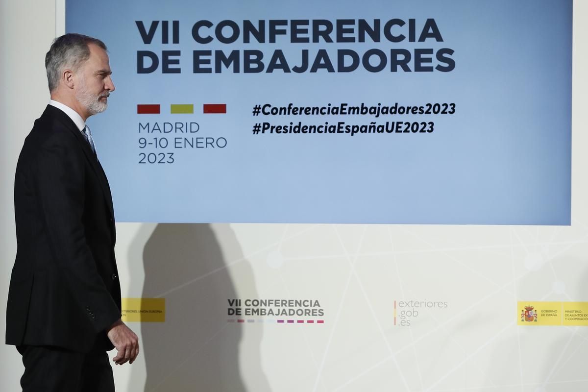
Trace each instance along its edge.
<instances>
[{"instance_id":1,"label":"near sleeve of the man's black suit jacket, shoulder to cuff","mask_svg":"<svg viewBox=\"0 0 588 392\"><path fill-rule=\"evenodd\" d=\"M57 267L98 333L120 319L121 312L106 289L86 242L82 220L85 157L77 143L62 135L46 140L33 172L38 173L35 183L42 220Z\"/></svg>"}]
</instances>

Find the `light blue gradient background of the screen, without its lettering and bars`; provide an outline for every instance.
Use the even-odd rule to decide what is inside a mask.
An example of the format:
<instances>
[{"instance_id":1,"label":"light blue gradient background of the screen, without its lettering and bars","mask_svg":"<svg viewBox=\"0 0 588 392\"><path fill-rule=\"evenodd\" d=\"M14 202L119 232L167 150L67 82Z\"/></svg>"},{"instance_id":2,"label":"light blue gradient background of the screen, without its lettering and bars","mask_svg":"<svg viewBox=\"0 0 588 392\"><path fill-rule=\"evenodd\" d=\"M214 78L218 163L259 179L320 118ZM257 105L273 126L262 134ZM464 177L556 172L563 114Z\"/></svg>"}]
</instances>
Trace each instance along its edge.
<instances>
[{"instance_id":1,"label":"light blue gradient background of the screen, without its lettering and bars","mask_svg":"<svg viewBox=\"0 0 588 392\"><path fill-rule=\"evenodd\" d=\"M417 33L435 18L444 42L291 44L280 36L275 44L199 45L191 36L201 19L343 18L382 19L382 25L415 18ZM136 20L147 27L179 20L180 45L162 45L160 28L144 45ZM116 91L108 110L88 123L119 221L570 224L572 1L67 1L66 31L108 45ZM293 66L302 49L327 49L336 63L342 48L361 54L444 47L455 50L452 72L192 73L192 51L199 49L259 49L266 62L282 49ZM136 74L136 51L177 49L181 74L162 74L161 66ZM457 110L379 119L251 114L256 103L289 102L455 102ZM162 114L136 115L138 103L161 103ZM195 114L166 114L171 103L194 103ZM203 103L226 103L228 113L202 115ZM253 124L264 120L434 121L435 132L252 135ZM173 165L140 165L139 152L156 151L138 148L139 121L198 122L194 136L222 136L228 146L175 150Z\"/></svg>"}]
</instances>

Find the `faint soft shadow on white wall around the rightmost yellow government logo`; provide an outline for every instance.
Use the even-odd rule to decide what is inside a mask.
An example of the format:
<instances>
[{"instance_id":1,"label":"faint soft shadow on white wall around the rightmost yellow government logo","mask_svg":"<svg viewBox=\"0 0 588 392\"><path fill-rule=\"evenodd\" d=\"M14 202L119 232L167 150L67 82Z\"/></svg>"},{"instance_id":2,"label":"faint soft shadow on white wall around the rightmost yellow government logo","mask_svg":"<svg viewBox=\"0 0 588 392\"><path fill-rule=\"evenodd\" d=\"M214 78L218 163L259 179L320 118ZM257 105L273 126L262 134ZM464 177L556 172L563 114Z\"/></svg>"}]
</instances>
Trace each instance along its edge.
<instances>
[{"instance_id":1,"label":"faint soft shadow on white wall around the rightmost yellow government logo","mask_svg":"<svg viewBox=\"0 0 588 392\"><path fill-rule=\"evenodd\" d=\"M545 264L531 273L524 285L516 283L519 284L517 299L529 301L531 305L533 301L588 301L586 260L566 256L551 260L551 264L551 267ZM542 283L536 283L536 280ZM527 292L539 294L529 298ZM517 309L515 313L513 309L513 322L523 311ZM488 391L588 390L588 381L583 377L588 362L586 327L536 326L530 321L528 325L525 323L514 328L515 331L492 345L494 360L486 370L485 387Z\"/></svg>"}]
</instances>

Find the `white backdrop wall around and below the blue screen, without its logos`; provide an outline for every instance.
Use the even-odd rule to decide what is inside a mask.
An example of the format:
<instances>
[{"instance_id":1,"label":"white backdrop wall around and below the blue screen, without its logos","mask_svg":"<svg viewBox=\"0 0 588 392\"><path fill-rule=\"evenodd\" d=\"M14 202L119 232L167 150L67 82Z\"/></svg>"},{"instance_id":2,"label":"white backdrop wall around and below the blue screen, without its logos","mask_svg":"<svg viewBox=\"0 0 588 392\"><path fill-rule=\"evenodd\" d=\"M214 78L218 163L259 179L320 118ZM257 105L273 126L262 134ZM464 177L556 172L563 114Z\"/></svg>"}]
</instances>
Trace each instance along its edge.
<instances>
[{"instance_id":1,"label":"white backdrop wall around and below the blue screen, without its logos","mask_svg":"<svg viewBox=\"0 0 588 392\"><path fill-rule=\"evenodd\" d=\"M65 19L62 1L0 7L5 314L16 159ZM572 226L118 224L123 296L166 300L165 323L129 323L142 354L116 367L118 390L588 390L588 327L517 326L517 301L588 301L587 17L575 1ZM229 323L228 299L318 300L324 323ZM410 300L447 306L401 326ZM0 357L2 390L18 390L18 353Z\"/></svg>"}]
</instances>

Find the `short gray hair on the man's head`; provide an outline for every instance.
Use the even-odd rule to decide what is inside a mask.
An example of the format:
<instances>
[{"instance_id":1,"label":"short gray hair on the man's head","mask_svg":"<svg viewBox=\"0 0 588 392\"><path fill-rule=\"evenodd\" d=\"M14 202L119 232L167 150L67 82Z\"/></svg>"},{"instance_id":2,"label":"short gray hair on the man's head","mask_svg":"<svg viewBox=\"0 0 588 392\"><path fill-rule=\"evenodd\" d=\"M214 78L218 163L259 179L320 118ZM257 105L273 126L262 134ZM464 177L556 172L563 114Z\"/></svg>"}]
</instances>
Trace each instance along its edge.
<instances>
[{"instance_id":1,"label":"short gray hair on the man's head","mask_svg":"<svg viewBox=\"0 0 588 392\"><path fill-rule=\"evenodd\" d=\"M83 34L68 33L54 39L49 52L45 55L45 69L50 92L59 85L64 69L77 71L79 66L88 60L90 57L88 45L91 43L106 50L104 42Z\"/></svg>"}]
</instances>

